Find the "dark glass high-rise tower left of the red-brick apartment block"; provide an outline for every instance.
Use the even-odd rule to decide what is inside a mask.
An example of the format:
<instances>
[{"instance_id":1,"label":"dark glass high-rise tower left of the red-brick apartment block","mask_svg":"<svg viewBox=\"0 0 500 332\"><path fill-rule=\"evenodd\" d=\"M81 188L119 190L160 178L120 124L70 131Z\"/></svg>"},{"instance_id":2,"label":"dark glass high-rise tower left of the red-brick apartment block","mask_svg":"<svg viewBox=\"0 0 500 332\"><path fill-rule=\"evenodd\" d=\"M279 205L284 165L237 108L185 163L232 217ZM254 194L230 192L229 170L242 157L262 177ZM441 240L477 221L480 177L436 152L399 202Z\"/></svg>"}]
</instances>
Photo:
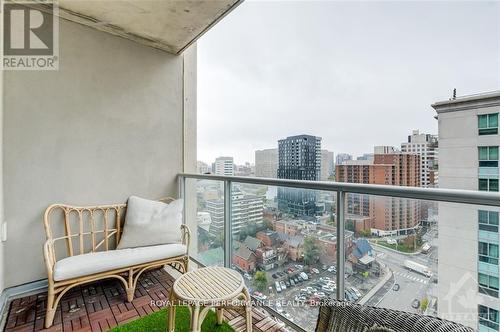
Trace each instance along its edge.
<instances>
[{"instance_id":1,"label":"dark glass high-rise tower left of the red-brick apartment block","mask_svg":"<svg viewBox=\"0 0 500 332\"><path fill-rule=\"evenodd\" d=\"M278 141L279 179L318 181L320 176L321 137L298 135ZM278 208L296 216L312 216L316 213L316 193L279 187Z\"/></svg>"}]
</instances>

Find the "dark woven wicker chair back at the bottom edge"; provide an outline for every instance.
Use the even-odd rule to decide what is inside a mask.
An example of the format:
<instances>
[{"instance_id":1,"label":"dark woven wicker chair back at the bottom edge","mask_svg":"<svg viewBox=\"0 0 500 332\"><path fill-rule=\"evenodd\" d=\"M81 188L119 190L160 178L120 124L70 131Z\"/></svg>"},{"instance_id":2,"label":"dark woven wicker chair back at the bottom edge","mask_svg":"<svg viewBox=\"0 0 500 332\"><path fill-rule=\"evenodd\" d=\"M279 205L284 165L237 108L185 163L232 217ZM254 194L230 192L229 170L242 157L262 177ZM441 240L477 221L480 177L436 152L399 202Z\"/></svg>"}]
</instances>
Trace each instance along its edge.
<instances>
[{"instance_id":1,"label":"dark woven wicker chair back at the bottom edge","mask_svg":"<svg viewBox=\"0 0 500 332\"><path fill-rule=\"evenodd\" d=\"M436 317L327 300L320 304L316 332L473 332Z\"/></svg>"}]
</instances>

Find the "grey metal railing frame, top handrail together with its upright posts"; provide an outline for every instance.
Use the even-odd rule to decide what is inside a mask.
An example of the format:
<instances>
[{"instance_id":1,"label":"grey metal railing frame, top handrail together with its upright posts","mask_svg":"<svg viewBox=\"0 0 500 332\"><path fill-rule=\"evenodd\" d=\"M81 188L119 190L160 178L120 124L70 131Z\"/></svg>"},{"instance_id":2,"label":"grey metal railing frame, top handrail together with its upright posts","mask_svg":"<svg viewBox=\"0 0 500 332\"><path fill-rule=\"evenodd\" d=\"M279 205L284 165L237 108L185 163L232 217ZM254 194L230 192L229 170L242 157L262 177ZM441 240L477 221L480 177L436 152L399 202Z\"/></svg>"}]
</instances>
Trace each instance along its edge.
<instances>
[{"instance_id":1,"label":"grey metal railing frame, top handrail together with its upright posts","mask_svg":"<svg viewBox=\"0 0 500 332\"><path fill-rule=\"evenodd\" d=\"M337 299L344 298L344 271L345 271L345 200L346 194L365 194L384 197L418 199L438 202L472 204L500 207L500 193L483 192L461 189L418 188L375 184L358 184L345 182L288 180L274 178L257 178L242 176L226 176L214 174L180 173L179 193L185 195L186 179L221 181L224 183L224 265L231 266L232 232L231 232L231 191L232 183L247 183L254 185L289 187L298 189L331 191L336 193L337 217ZM186 200L184 200L185 202ZM184 203L185 204L185 203ZM185 214L184 214L185 215ZM184 221L186 222L186 221ZM194 260L194 259L193 259ZM199 263L201 264L201 263ZM201 264L203 265L203 264ZM297 331L305 332L298 324L290 321L272 308L264 308L274 316L280 317L288 326Z\"/></svg>"}]
</instances>

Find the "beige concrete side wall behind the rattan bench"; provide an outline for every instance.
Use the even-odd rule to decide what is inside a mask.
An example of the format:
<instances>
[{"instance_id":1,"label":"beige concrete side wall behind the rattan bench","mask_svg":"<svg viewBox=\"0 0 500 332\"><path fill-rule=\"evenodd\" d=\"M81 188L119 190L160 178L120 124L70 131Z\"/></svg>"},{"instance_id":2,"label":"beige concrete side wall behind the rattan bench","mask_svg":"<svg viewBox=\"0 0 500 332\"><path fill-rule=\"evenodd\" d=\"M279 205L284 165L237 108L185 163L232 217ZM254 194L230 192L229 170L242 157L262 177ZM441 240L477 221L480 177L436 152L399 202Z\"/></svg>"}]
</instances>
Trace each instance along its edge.
<instances>
[{"instance_id":1,"label":"beige concrete side wall behind the rattan bench","mask_svg":"<svg viewBox=\"0 0 500 332\"><path fill-rule=\"evenodd\" d=\"M61 20L59 71L4 73L6 287L46 278L49 204L177 195L177 173L196 160L193 52L185 63Z\"/></svg>"}]
</instances>

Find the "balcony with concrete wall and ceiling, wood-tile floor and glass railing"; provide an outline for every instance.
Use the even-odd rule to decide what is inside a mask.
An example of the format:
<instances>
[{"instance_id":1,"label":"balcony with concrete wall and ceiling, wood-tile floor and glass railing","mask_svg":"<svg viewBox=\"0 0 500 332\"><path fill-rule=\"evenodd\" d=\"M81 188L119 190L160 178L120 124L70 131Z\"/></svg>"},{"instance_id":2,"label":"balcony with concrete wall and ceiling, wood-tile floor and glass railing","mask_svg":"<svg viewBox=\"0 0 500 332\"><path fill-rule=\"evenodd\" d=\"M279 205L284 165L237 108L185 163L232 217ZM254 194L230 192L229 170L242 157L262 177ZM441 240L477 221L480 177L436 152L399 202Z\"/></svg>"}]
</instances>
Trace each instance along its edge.
<instances>
[{"instance_id":1,"label":"balcony with concrete wall and ceiling, wood-tile floor and glass railing","mask_svg":"<svg viewBox=\"0 0 500 332\"><path fill-rule=\"evenodd\" d=\"M240 1L138 3L60 1L59 70L0 71L5 331L44 330L47 206L124 203L130 195L184 199L190 269L240 272L256 300L254 331L314 330L316 304L327 299L424 320L459 320L453 314L460 313L473 328L495 326L481 306L498 294L498 264L491 263L498 222L491 215L474 232L474 221L478 209L498 211L499 194L189 173L197 152L196 40ZM48 10L40 1L29 8ZM280 212L281 193L285 203L300 200ZM453 222L439 228L437 216ZM493 260L466 265L479 254L457 250L461 241L486 243L483 256ZM428 264L421 269L408 257ZM470 273L455 284L452 276L464 269ZM131 302L114 279L82 283L62 296L46 330L105 331L150 317L179 276L172 267L148 270ZM467 290L478 288L484 291L464 305ZM234 330L245 329L239 312L224 315Z\"/></svg>"}]
</instances>

